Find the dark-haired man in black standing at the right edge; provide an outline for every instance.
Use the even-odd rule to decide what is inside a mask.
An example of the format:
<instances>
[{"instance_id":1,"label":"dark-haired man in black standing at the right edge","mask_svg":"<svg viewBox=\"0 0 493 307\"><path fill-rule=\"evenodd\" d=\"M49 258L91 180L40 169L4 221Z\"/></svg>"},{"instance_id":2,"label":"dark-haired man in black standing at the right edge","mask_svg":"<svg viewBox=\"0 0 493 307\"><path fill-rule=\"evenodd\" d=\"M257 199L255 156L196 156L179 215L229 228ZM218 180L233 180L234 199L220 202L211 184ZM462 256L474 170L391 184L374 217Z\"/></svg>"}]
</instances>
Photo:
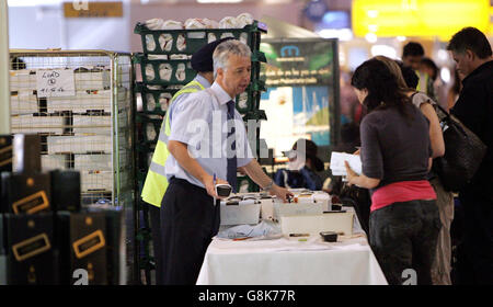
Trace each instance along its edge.
<instances>
[{"instance_id":1,"label":"dark-haired man in black standing at the right edge","mask_svg":"<svg viewBox=\"0 0 493 307\"><path fill-rule=\"evenodd\" d=\"M486 146L486 155L471 182L459 191L463 209L463 240L458 249L458 282L493 285L493 58L486 36L465 27L450 39L459 75L465 76L456 115Z\"/></svg>"}]
</instances>

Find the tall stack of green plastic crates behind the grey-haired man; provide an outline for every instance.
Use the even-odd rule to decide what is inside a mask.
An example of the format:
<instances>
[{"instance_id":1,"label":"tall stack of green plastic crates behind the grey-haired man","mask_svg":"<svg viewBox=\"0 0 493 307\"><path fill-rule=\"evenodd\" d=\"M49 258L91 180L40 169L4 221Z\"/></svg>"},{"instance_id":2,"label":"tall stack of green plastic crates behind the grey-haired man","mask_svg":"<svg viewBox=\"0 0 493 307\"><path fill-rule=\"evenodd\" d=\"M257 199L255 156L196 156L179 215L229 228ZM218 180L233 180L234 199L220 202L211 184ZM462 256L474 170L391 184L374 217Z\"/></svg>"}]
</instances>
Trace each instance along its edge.
<instances>
[{"instance_id":1,"label":"tall stack of green plastic crates behind the grey-haired man","mask_svg":"<svg viewBox=\"0 0 493 307\"><path fill-rule=\"evenodd\" d=\"M191 57L199 48L211 41L234 36L250 46L252 50L252 75L251 83L246 91L237 96L237 110L243 115L243 120L262 121L266 120L265 112L260 110L261 92L265 91L265 82L260 80L261 62L265 62L265 55L260 52L261 34L266 33L266 26L257 21L243 29L194 29L194 30L149 30L145 24L137 23L135 34L140 35L144 53L135 54L134 64L140 67L142 82L135 83L135 93L139 93L142 100L142 111L136 112L136 152L138 174L136 189L140 195L146 180L152 152L156 148L162 120L168 105L164 105L175 92L195 78L196 72L192 69ZM172 38L171 44L163 44L164 37ZM176 42L184 38L185 45L179 46ZM163 44L163 45L162 45ZM152 133L154 129L154 133ZM257 155L259 134L256 136ZM248 185L244 180L248 180ZM240 178L239 187L249 186L248 192L259 191L259 186L249 178ZM140 197L139 197L140 200ZM142 202L140 200L140 202ZM141 203L138 208L146 212L146 206ZM145 224L148 221L145 214ZM148 224L147 224L148 225ZM149 234L149 227L142 227L142 232ZM142 235L142 234L140 234ZM149 268L147 254L149 236L139 236L142 242L144 262L141 268Z\"/></svg>"}]
</instances>

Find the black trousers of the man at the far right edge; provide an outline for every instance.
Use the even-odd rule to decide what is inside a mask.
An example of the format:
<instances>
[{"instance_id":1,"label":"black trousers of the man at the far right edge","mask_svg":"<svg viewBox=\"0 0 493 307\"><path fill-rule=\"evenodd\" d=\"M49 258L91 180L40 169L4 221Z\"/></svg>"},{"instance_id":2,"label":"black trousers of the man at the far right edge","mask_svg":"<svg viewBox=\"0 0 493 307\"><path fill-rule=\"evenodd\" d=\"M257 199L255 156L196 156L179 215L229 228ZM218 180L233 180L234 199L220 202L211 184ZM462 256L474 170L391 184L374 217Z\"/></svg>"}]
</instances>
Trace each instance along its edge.
<instances>
[{"instance_id":1,"label":"black trousers of the man at the far right edge","mask_svg":"<svg viewBox=\"0 0 493 307\"><path fill-rule=\"evenodd\" d=\"M493 285L493 201L468 186L459 193L463 236L457 251L457 283Z\"/></svg>"}]
</instances>

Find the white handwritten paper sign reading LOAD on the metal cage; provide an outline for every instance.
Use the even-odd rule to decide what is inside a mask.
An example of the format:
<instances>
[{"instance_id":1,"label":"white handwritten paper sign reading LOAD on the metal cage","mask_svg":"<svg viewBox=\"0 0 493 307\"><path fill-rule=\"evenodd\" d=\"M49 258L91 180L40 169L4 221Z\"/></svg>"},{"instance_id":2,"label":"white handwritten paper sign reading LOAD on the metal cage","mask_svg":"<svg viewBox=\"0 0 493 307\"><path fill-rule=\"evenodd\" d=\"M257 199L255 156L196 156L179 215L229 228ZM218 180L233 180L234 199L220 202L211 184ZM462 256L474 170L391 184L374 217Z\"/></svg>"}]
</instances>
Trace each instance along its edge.
<instances>
[{"instance_id":1,"label":"white handwritten paper sign reading LOAD on the metal cage","mask_svg":"<svg viewBox=\"0 0 493 307\"><path fill-rule=\"evenodd\" d=\"M36 71L38 98L76 95L72 69L41 69Z\"/></svg>"}]
</instances>

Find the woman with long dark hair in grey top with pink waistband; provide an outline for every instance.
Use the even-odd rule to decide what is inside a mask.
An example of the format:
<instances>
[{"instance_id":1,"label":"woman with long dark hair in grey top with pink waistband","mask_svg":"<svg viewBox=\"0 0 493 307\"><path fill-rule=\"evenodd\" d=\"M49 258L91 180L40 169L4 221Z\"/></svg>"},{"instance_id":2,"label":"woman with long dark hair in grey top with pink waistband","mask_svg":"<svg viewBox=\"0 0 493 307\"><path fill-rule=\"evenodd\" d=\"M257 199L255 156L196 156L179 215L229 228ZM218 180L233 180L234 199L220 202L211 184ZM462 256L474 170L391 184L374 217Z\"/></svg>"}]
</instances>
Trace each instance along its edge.
<instances>
[{"instance_id":1,"label":"woman with long dark hair in grey top with pink waistband","mask_svg":"<svg viewBox=\"0 0 493 307\"><path fill-rule=\"evenodd\" d=\"M389 284L402 284L410 272L417 284L432 284L440 220L426 180L433 154L429 123L377 59L362 64L351 84L368 114L360 125L363 172L356 174L346 163L347 181L370 189L371 249Z\"/></svg>"}]
</instances>

